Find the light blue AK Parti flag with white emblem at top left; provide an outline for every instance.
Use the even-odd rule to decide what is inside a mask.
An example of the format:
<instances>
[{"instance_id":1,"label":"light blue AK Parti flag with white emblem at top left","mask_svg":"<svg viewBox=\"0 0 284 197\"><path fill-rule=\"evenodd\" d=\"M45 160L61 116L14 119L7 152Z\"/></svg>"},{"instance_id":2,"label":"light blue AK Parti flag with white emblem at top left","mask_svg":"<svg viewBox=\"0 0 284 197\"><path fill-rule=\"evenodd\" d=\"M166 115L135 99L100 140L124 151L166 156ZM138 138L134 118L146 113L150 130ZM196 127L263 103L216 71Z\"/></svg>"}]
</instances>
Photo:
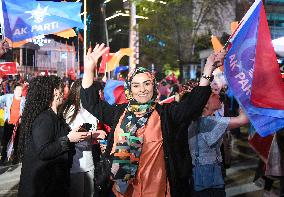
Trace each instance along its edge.
<instances>
[{"instance_id":1,"label":"light blue AK Parti flag with white emblem at top left","mask_svg":"<svg viewBox=\"0 0 284 197\"><path fill-rule=\"evenodd\" d=\"M13 42L84 27L79 2L2 0L2 11L5 36Z\"/></svg>"}]
</instances>

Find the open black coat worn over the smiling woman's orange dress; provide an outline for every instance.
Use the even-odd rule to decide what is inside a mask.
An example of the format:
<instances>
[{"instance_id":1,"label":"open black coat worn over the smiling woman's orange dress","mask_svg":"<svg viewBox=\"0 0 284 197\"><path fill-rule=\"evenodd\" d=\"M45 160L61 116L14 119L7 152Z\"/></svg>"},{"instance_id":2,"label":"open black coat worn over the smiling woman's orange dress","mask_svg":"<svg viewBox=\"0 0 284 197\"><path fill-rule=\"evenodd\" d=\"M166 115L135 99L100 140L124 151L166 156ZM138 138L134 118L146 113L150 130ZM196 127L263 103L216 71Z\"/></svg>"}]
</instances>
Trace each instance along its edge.
<instances>
[{"instance_id":1,"label":"open black coat worn over the smiling woman's orange dress","mask_svg":"<svg viewBox=\"0 0 284 197\"><path fill-rule=\"evenodd\" d=\"M81 88L81 102L85 109L113 129L127 105L109 105L99 99L100 86L95 82L87 89ZM181 102L157 105L161 117L163 148L167 176L172 197L181 197L188 190L191 163L187 143L187 126L197 119L211 94L210 86L198 86ZM187 162L186 162L187 161Z\"/></svg>"}]
</instances>

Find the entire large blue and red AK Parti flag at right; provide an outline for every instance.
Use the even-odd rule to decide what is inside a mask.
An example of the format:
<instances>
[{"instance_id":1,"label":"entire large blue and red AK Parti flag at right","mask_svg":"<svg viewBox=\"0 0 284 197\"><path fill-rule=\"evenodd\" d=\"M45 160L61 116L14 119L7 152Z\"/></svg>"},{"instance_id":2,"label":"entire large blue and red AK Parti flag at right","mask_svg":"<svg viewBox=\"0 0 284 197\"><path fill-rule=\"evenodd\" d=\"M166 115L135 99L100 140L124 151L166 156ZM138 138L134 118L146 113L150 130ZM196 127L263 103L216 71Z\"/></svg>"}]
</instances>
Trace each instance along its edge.
<instances>
[{"instance_id":1,"label":"entire large blue and red AK Parti flag at right","mask_svg":"<svg viewBox=\"0 0 284 197\"><path fill-rule=\"evenodd\" d=\"M256 0L229 39L229 51L224 61L228 85L246 111L253 127L262 137L284 127L284 111L278 110L281 103L284 102L284 97L280 93L278 94L279 97L275 98L276 94L271 93L272 91L281 92L284 90L283 87L278 86L281 85L278 83L278 79L275 79L278 74L281 79L280 71L279 68L278 70L273 68L276 65L273 64L272 59L265 59L265 57L271 58L270 53L273 54L274 51L270 51L269 47L263 49L264 46L259 44L264 42L261 35L269 34L268 29L262 27L264 24L261 21L265 20L264 17L265 11L262 1ZM260 50L259 47L262 47L262 49ZM261 58L263 64L259 64L257 58ZM260 77L259 72L263 76L262 82L258 78ZM275 84L271 84L271 81L274 81ZM261 84L263 84L263 88ZM256 90L256 87L258 88L257 91L265 92L270 97L268 101L274 99L277 101L282 99L282 101L279 101L279 105L274 106L275 109L253 105L256 102L255 100L252 102L251 97L253 97L252 92Z\"/></svg>"}]
</instances>

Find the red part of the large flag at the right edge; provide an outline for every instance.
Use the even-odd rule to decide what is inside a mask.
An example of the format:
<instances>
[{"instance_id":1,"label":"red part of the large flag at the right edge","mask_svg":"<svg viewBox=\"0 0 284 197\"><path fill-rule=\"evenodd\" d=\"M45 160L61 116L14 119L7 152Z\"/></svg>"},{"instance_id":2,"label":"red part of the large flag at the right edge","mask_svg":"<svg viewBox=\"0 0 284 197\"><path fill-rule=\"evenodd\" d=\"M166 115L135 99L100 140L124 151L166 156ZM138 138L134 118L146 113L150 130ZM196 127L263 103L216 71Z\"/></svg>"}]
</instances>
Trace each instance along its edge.
<instances>
[{"instance_id":1,"label":"red part of the large flag at the right edge","mask_svg":"<svg viewBox=\"0 0 284 197\"><path fill-rule=\"evenodd\" d=\"M257 107L284 109L284 82L263 6L258 29L251 102Z\"/></svg>"}]
</instances>

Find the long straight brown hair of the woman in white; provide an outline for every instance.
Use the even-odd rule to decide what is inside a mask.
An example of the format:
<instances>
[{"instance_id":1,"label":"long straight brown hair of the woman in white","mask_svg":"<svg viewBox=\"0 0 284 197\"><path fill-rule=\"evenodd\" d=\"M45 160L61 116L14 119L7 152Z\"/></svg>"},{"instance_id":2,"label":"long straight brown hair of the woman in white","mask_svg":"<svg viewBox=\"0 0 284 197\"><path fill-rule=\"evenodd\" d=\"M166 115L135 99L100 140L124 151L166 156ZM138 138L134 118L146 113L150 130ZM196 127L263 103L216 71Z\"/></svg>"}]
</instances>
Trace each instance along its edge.
<instances>
[{"instance_id":1,"label":"long straight brown hair of the woman in white","mask_svg":"<svg viewBox=\"0 0 284 197\"><path fill-rule=\"evenodd\" d=\"M77 79L71 86L70 92L68 94L67 99L63 103L63 105L59 109L60 116L66 118L70 107L74 106L75 110L74 113L71 115L71 119L68 123L72 123L76 115L80 110L80 89L81 89L82 80Z\"/></svg>"}]
</instances>

